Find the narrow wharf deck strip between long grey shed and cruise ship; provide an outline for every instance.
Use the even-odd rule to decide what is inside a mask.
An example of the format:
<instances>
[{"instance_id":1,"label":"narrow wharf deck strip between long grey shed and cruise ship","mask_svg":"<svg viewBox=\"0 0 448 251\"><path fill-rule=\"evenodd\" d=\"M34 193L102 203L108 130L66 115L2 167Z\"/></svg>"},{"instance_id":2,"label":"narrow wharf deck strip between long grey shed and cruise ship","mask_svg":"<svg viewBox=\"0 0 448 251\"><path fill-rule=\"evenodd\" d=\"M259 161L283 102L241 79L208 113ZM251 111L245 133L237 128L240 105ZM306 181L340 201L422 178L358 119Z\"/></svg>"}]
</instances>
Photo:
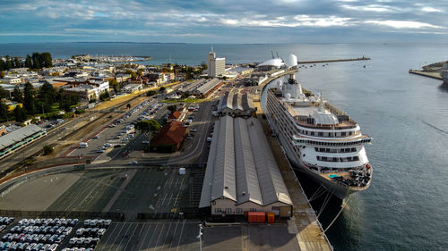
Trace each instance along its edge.
<instances>
[{"instance_id":1,"label":"narrow wharf deck strip between long grey shed and cruise ship","mask_svg":"<svg viewBox=\"0 0 448 251\"><path fill-rule=\"evenodd\" d=\"M281 150L281 146L277 138L270 136L270 127L268 121L263 119L263 109L260 102L254 102L257 107L257 117L263 124L263 130L268 138L272 153L279 165L281 176L289 190L289 196L294 204L293 217L289 220L289 231L294 232L297 237L297 242L301 250L319 250L331 251L332 245L328 238L321 235L323 229L317 221L314 210L308 202L300 183L297 180L296 174L293 172L286 156Z\"/></svg>"}]
</instances>

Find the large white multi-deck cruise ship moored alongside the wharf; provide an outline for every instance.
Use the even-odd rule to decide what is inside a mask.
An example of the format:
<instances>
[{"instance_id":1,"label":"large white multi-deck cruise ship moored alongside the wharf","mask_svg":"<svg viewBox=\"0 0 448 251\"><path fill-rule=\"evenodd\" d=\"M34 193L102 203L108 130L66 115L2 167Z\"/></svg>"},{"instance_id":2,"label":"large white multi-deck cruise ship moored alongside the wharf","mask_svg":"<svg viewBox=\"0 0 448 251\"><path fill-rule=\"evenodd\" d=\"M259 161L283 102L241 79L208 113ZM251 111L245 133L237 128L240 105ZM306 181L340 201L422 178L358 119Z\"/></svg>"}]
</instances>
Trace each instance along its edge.
<instances>
[{"instance_id":1,"label":"large white multi-deck cruise ship moored alongside the wharf","mask_svg":"<svg viewBox=\"0 0 448 251\"><path fill-rule=\"evenodd\" d=\"M341 200L368 188L373 169L364 145L372 138L320 94L304 91L294 74L276 84L265 113L293 168Z\"/></svg>"}]
</instances>

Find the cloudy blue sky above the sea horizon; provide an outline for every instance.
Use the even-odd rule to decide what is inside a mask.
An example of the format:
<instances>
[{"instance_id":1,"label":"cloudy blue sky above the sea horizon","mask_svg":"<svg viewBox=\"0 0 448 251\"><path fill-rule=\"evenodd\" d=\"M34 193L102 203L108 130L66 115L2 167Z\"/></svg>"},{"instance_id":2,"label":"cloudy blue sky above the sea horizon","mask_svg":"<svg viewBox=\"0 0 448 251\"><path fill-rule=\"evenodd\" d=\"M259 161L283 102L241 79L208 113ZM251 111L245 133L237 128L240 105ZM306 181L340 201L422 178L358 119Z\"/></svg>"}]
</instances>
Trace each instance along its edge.
<instances>
[{"instance_id":1,"label":"cloudy blue sky above the sea horizon","mask_svg":"<svg viewBox=\"0 0 448 251\"><path fill-rule=\"evenodd\" d=\"M1 0L0 43L448 43L446 0Z\"/></svg>"}]
</instances>

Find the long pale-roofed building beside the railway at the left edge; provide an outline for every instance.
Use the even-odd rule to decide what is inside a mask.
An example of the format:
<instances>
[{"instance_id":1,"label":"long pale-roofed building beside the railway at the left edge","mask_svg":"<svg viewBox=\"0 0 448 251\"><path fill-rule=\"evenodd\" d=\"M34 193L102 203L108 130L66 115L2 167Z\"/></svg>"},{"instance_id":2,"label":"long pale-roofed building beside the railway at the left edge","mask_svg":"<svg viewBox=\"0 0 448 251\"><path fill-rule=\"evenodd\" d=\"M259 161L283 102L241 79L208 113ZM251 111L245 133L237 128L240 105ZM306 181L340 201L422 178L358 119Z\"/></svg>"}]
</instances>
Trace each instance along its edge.
<instances>
[{"instance_id":1,"label":"long pale-roofed building beside the railway at the left edge","mask_svg":"<svg viewBox=\"0 0 448 251\"><path fill-rule=\"evenodd\" d=\"M35 124L30 124L0 137L0 159L46 134L45 130Z\"/></svg>"}]
</instances>

